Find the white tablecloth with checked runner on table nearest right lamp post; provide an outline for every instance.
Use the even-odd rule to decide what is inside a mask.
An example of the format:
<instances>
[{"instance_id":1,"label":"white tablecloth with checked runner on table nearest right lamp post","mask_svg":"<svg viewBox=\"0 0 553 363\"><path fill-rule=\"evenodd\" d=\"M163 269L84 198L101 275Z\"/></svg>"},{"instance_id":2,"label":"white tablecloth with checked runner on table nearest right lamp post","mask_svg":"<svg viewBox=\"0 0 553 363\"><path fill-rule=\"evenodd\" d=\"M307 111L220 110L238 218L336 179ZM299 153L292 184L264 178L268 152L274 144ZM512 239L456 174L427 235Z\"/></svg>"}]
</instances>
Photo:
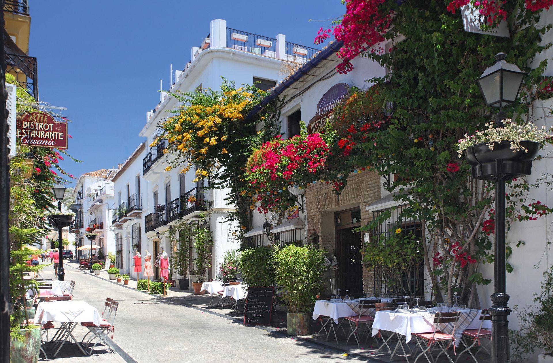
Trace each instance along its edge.
<instances>
[{"instance_id":1,"label":"white tablecloth with checked runner on table nearest right lamp post","mask_svg":"<svg viewBox=\"0 0 553 363\"><path fill-rule=\"evenodd\" d=\"M444 308L441 311L456 311L456 308ZM461 317L458 321L456 334L455 334L455 345L457 346L460 343L461 335L465 329L478 329L480 327L479 316L482 313L481 311L464 309L461 310ZM377 311L374 314L373 322L373 333L375 336L378 334L379 330L386 330L387 332L395 332L405 336L405 341L409 343L411 340L412 333L428 333L434 331L434 312L423 312L423 313L403 313L396 311ZM490 320L484 321L483 328L491 329L492 323ZM444 327L439 327L443 332L451 334L453 332L451 329L444 329ZM450 330L450 331L448 331Z\"/></svg>"}]
</instances>

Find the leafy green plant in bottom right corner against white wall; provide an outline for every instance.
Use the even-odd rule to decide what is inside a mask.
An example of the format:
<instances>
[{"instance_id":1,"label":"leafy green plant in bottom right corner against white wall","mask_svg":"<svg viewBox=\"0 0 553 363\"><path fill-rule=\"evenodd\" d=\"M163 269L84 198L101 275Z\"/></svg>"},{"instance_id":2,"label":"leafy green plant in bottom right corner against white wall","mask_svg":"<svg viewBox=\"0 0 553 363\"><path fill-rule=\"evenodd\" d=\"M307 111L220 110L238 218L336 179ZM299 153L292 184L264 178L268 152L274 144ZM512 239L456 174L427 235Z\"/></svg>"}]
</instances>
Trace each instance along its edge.
<instances>
[{"instance_id":1,"label":"leafy green plant in bottom right corner against white wall","mask_svg":"<svg viewBox=\"0 0 553 363\"><path fill-rule=\"evenodd\" d=\"M519 313L521 328L510 331L512 356L517 361L525 361L524 357L538 348L538 362L553 363L553 266L544 272L544 278L541 293L534 294L536 306ZM514 310L518 310L517 306Z\"/></svg>"}]
</instances>

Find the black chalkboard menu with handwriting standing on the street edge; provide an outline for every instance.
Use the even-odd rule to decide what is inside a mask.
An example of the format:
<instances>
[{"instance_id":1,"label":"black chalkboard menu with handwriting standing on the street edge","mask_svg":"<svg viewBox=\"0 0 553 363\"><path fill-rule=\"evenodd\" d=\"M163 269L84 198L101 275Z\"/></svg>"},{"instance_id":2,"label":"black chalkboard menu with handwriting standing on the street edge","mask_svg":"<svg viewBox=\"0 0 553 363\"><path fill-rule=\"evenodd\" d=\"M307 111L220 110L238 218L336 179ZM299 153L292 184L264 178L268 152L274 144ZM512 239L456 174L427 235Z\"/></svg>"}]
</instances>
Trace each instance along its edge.
<instances>
[{"instance_id":1,"label":"black chalkboard menu with handwriting standing on the street edge","mask_svg":"<svg viewBox=\"0 0 553 363\"><path fill-rule=\"evenodd\" d=\"M244 325L269 325L273 313L273 287L248 287Z\"/></svg>"}]
</instances>

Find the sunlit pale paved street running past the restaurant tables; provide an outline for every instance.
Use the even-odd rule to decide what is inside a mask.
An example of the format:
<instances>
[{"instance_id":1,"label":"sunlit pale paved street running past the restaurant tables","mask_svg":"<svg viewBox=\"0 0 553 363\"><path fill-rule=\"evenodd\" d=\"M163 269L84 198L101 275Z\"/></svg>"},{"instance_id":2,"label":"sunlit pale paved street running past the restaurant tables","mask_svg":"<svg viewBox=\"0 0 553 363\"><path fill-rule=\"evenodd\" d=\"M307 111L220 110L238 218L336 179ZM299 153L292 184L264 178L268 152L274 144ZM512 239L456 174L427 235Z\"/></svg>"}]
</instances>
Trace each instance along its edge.
<instances>
[{"instance_id":1,"label":"sunlit pale paved street running past the restaurant tables","mask_svg":"<svg viewBox=\"0 0 553 363\"><path fill-rule=\"evenodd\" d=\"M114 342L118 354L106 353L82 357L69 347L55 362L336 362L359 361L356 356L343 356L339 351L288 335L270 328L244 327L234 319L213 314L205 309L186 306L186 298L154 297L106 281L76 268L65 261L66 280L75 280L74 298L86 301L102 311L106 297L119 301L115 320ZM41 273L53 278L46 267ZM80 327L79 327L80 328ZM79 330L76 336L82 336ZM80 352L79 352L80 353ZM73 357L71 357L73 354ZM363 359L362 361L367 361Z\"/></svg>"}]
</instances>

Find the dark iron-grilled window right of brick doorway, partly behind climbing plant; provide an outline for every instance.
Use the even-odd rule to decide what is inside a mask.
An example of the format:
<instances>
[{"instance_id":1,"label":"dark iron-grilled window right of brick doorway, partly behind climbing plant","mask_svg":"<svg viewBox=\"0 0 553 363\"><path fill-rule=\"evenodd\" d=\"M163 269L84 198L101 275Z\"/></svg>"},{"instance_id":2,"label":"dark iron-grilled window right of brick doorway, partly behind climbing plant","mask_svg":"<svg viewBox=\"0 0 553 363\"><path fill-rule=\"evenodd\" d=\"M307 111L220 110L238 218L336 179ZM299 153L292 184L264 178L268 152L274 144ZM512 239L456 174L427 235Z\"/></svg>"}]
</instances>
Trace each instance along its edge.
<instances>
[{"instance_id":1,"label":"dark iron-grilled window right of brick doorway, partly behind climbing plant","mask_svg":"<svg viewBox=\"0 0 553 363\"><path fill-rule=\"evenodd\" d=\"M395 233L395 228L401 228L401 235L408 236L413 233L416 250L419 256L414 263L404 269L400 276L390 276L382 269L374 269L374 291L392 297L424 297L424 248L422 246L422 224L419 220L404 218L401 212L406 206L381 209L373 212L373 220L383 213L390 213L390 217L371 231L368 243L386 243L390 233Z\"/></svg>"}]
</instances>

